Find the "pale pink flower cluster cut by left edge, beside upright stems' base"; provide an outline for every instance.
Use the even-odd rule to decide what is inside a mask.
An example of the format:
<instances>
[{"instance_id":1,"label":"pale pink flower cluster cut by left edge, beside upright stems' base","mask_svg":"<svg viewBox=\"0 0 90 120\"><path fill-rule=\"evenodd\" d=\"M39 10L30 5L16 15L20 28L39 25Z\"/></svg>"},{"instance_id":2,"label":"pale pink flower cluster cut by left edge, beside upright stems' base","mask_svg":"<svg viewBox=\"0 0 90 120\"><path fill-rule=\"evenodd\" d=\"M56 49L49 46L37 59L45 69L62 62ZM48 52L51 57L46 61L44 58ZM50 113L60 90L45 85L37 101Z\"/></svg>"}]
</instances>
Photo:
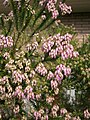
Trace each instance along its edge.
<instances>
[{"instance_id":1,"label":"pale pink flower cluster cut by left edge, beside upright stems' base","mask_svg":"<svg viewBox=\"0 0 90 120\"><path fill-rule=\"evenodd\" d=\"M13 39L11 36L5 37L4 35L0 35L0 48L7 48L13 46Z\"/></svg>"}]
</instances>

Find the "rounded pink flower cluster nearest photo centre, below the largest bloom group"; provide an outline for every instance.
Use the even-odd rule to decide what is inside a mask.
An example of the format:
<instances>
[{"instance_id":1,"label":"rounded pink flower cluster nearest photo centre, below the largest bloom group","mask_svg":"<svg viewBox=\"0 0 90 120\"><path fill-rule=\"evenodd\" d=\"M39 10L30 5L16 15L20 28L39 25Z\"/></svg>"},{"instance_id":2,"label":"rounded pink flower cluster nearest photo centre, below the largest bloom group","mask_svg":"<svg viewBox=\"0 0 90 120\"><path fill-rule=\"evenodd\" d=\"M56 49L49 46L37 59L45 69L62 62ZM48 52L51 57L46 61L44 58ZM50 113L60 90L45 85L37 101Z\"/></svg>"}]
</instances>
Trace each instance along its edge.
<instances>
[{"instance_id":1,"label":"rounded pink flower cluster nearest photo centre, below the largest bloom group","mask_svg":"<svg viewBox=\"0 0 90 120\"><path fill-rule=\"evenodd\" d=\"M35 71L42 76L45 76L47 74L47 69L45 68L43 63L39 63Z\"/></svg>"}]
</instances>

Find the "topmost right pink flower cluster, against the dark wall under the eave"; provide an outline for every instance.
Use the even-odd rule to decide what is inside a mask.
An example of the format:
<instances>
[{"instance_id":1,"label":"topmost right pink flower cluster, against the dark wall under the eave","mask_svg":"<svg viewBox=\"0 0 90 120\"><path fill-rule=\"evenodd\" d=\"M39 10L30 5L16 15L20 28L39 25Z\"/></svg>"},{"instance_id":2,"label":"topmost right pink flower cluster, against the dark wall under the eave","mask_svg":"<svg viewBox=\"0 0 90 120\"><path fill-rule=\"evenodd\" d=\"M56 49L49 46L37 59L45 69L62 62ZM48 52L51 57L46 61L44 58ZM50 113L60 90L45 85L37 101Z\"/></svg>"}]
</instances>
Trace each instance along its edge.
<instances>
[{"instance_id":1,"label":"topmost right pink flower cluster, against the dark wall under the eave","mask_svg":"<svg viewBox=\"0 0 90 120\"><path fill-rule=\"evenodd\" d=\"M72 12L71 6L67 6L65 3L60 2L59 7L61 9L62 15L70 14Z\"/></svg>"}]
</instances>

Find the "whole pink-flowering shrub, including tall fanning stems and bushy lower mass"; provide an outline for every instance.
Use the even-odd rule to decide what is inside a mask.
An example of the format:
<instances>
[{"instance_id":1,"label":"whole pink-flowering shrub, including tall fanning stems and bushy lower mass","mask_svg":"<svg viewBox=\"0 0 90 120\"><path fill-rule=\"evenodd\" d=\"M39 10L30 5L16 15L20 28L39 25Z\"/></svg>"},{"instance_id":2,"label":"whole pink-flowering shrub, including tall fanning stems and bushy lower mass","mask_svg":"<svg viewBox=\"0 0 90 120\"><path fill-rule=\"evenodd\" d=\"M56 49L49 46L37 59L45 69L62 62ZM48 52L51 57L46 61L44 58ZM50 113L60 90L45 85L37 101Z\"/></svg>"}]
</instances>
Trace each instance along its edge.
<instances>
[{"instance_id":1,"label":"whole pink-flowering shrub, including tall fanning stems and bushy lower mass","mask_svg":"<svg viewBox=\"0 0 90 120\"><path fill-rule=\"evenodd\" d=\"M6 2L12 11L0 17L0 118L80 120L74 110L65 108L62 97L74 70L70 60L79 55L71 44L72 34L37 39L37 32L49 27L61 14L70 14L71 7L58 0ZM90 118L88 108L83 115Z\"/></svg>"}]
</instances>

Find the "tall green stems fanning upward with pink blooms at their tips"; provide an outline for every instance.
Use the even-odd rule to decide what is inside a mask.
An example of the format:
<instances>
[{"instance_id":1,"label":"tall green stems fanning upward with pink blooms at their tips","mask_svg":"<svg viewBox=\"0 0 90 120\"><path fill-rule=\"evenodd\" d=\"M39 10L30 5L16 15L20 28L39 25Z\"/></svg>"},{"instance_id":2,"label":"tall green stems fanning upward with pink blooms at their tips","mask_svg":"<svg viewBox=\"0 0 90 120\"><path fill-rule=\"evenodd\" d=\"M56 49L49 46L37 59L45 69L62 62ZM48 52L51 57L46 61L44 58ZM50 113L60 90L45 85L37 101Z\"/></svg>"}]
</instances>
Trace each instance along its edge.
<instances>
[{"instance_id":1,"label":"tall green stems fanning upward with pink blooms at their tips","mask_svg":"<svg viewBox=\"0 0 90 120\"><path fill-rule=\"evenodd\" d=\"M71 13L71 7L59 0L6 0L11 12L5 16L1 14L0 24L2 33L7 36L11 35L14 38L15 49L20 40L20 36L29 28L28 39L20 43L28 43L34 34L48 28L59 19L60 15Z\"/></svg>"}]
</instances>

